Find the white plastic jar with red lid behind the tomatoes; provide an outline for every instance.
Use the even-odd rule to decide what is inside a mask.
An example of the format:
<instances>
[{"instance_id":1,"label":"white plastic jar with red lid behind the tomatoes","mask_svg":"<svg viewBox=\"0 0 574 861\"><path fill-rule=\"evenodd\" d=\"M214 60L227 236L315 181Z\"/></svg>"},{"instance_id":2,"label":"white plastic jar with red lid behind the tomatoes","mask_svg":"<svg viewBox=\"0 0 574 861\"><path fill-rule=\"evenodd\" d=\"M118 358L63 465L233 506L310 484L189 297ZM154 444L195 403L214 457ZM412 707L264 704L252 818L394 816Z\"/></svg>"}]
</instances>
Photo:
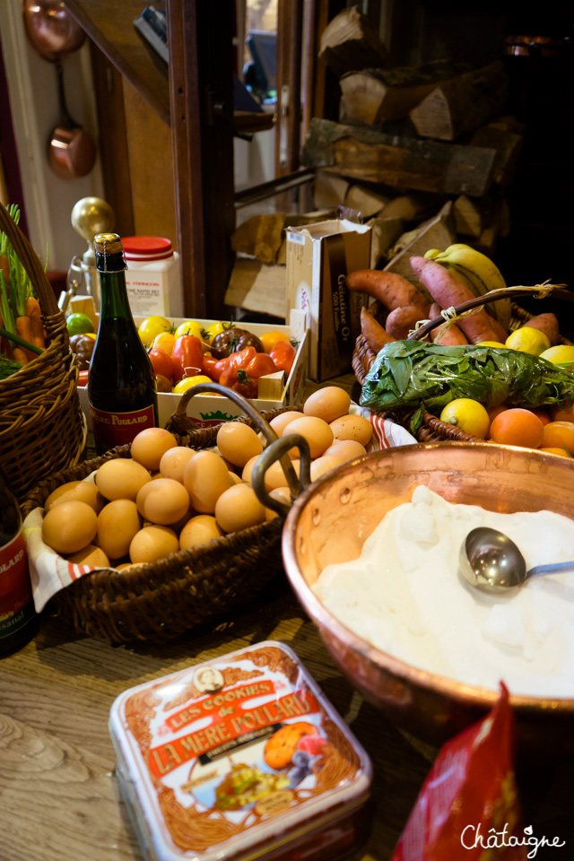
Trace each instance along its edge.
<instances>
[{"instance_id":1,"label":"white plastic jar with red lid behind the tomatoes","mask_svg":"<svg viewBox=\"0 0 574 861\"><path fill-rule=\"evenodd\" d=\"M170 239L126 236L126 286L134 317L182 317L179 255Z\"/></svg>"}]
</instances>

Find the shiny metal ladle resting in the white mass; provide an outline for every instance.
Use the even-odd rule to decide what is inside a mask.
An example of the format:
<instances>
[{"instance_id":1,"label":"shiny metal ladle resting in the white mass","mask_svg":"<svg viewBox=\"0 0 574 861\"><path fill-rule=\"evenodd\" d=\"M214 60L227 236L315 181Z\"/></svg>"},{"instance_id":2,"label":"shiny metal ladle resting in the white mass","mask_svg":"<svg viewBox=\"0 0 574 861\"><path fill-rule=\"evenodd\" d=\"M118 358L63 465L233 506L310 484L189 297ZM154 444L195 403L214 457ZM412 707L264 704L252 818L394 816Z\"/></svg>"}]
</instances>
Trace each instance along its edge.
<instances>
[{"instance_id":1,"label":"shiny metal ladle resting in the white mass","mask_svg":"<svg viewBox=\"0 0 574 861\"><path fill-rule=\"evenodd\" d=\"M538 574L574 571L574 561L536 565L526 570L526 561L517 545L489 526L472 529L460 546L458 567L468 583L483 592L506 592Z\"/></svg>"}]
</instances>

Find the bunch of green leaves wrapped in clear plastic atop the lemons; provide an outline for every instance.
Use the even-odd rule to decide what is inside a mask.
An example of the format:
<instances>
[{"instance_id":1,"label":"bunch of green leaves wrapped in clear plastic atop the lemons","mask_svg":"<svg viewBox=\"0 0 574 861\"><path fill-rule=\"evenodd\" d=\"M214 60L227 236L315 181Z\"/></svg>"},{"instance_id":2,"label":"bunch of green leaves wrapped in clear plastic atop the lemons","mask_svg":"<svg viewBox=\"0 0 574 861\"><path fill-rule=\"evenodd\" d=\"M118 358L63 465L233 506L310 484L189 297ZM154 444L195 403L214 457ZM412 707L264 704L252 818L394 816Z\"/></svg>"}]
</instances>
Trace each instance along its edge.
<instances>
[{"instance_id":1,"label":"bunch of green leaves wrapped in clear plastic atop the lemons","mask_svg":"<svg viewBox=\"0 0 574 861\"><path fill-rule=\"evenodd\" d=\"M485 406L564 406L574 401L574 375L517 350L395 341L378 353L361 405L381 413L414 407L414 430L422 422L419 408L439 415L456 397L471 397Z\"/></svg>"}]
</instances>

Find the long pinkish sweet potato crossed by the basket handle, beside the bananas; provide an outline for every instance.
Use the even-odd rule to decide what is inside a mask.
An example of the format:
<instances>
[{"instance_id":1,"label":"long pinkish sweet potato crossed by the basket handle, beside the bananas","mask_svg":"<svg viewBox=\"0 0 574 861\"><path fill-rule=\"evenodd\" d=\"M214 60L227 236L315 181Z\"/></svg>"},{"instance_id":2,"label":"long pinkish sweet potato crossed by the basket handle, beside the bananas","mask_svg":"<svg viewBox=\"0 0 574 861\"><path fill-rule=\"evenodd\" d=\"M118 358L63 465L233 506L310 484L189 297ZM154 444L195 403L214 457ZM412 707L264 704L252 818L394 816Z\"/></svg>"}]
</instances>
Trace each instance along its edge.
<instances>
[{"instance_id":1,"label":"long pinkish sweet potato crossed by the basket handle, beside the bananas","mask_svg":"<svg viewBox=\"0 0 574 861\"><path fill-rule=\"evenodd\" d=\"M427 257L411 257L411 266L441 308L447 309L474 299L465 284L458 281L454 274L434 260ZM469 344L499 341L498 331L491 324L492 318L484 309L457 320L457 326L464 332Z\"/></svg>"}]
</instances>

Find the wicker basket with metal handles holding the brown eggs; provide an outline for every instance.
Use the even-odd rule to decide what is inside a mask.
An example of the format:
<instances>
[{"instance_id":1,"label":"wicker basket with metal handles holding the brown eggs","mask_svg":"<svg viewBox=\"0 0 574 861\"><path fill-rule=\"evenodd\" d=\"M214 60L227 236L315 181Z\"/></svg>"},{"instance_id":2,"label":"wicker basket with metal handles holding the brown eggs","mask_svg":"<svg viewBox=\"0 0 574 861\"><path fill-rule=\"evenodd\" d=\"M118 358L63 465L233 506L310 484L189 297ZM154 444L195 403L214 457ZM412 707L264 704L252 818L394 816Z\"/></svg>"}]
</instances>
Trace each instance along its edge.
<instances>
[{"instance_id":1,"label":"wicker basket with metal handles holding the brown eggs","mask_svg":"<svg viewBox=\"0 0 574 861\"><path fill-rule=\"evenodd\" d=\"M221 391L222 387L196 386L181 400L185 397L187 405L190 395L215 389ZM231 394L234 400L240 398L235 392ZM288 409L301 411L302 407L285 407L262 416L250 407L249 414L255 418L241 417L238 421L262 430L262 417L269 421ZM178 437L178 442L190 448L211 448L219 427L184 429L185 439ZM61 484L82 480L115 457L130 457L130 446L114 448L102 457L50 475L25 500L22 516L43 507L48 495ZM57 613L77 633L97 639L165 642L214 615L235 611L257 596L283 570L282 529L283 521L275 517L194 550L172 553L161 561L122 571L94 571L58 592L48 603L47 612Z\"/></svg>"}]
</instances>

